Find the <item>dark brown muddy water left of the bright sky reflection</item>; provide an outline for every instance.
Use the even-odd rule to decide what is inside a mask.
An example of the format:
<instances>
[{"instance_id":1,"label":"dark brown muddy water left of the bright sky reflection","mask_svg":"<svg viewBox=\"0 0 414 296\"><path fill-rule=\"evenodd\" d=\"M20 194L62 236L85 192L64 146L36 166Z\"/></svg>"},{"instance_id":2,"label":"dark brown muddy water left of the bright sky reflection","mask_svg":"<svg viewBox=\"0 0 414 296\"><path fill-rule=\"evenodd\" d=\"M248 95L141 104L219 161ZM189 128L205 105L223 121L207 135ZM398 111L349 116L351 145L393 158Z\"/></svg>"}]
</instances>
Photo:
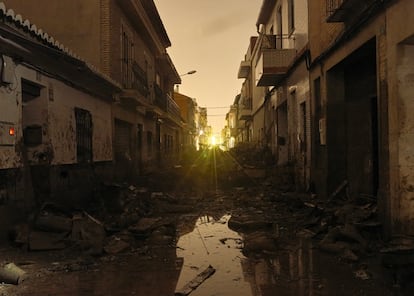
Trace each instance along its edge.
<instances>
[{"instance_id":1,"label":"dark brown muddy water left of the bright sky reflection","mask_svg":"<svg viewBox=\"0 0 414 296\"><path fill-rule=\"evenodd\" d=\"M10 287L8 294L0 291L0 295L174 295L183 263L181 258L174 257L167 254L164 257L143 260L140 256L128 255L115 262L98 264L84 271L50 272L48 276L30 277L23 284Z\"/></svg>"}]
</instances>

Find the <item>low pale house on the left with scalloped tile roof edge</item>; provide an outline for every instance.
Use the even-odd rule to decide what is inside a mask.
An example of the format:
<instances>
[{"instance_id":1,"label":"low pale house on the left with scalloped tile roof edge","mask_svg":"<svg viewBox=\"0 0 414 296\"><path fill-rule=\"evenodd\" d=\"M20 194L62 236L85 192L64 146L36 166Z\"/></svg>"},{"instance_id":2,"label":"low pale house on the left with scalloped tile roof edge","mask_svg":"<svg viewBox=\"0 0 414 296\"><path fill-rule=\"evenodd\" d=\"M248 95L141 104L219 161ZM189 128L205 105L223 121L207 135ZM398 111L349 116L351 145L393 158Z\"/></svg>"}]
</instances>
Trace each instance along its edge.
<instances>
[{"instance_id":1,"label":"low pale house on the left with scalloped tile roof edge","mask_svg":"<svg viewBox=\"0 0 414 296\"><path fill-rule=\"evenodd\" d=\"M0 227L44 202L82 206L113 177L121 86L0 2Z\"/></svg>"}]
</instances>

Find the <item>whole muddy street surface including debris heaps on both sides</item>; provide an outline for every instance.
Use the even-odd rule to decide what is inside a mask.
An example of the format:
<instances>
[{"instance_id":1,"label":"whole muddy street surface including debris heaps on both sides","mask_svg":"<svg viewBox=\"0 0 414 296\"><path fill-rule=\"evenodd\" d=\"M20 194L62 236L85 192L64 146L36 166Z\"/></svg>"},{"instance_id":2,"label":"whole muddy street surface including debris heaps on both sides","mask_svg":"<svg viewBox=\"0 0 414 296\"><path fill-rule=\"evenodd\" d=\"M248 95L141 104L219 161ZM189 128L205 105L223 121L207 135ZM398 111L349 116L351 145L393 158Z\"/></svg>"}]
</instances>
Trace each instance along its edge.
<instances>
[{"instance_id":1,"label":"whole muddy street surface including debris heaps on both sides","mask_svg":"<svg viewBox=\"0 0 414 296\"><path fill-rule=\"evenodd\" d=\"M45 205L0 247L0 295L412 295L411 242L382 241L371 201L285 185L212 149Z\"/></svg>"}]
</instances>

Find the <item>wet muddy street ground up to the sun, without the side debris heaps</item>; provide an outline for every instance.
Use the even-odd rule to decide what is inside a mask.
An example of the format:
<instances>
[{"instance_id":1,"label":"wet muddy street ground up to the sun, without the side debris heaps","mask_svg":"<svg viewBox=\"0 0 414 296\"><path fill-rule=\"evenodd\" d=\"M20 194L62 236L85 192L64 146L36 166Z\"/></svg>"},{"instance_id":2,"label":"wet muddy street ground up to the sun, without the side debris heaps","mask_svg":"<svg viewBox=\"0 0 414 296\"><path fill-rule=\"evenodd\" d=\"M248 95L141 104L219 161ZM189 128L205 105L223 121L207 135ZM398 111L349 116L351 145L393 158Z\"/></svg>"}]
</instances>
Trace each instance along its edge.
<instances>
[{"instance_id":1,"label":"wet muddy street ground up to the sun, without the side debris heaps","mask_svg":"<svg viewBox=\"0 0 414 296\"><path fill-rule=\"evenodd\" d=\"M228 154L207 151L168 176L154 188L143 184L148 194L126 190L122 214L99 216L108 240L124 240L123 251L0 248L2 265L26 272L18 285L0 284L0 295L168 296L209 266L215 272L190 295L412 295L409 266L384 267L377 249L356 253L358 260L322 251L321 238L303 227L315 211L247 177ZM132 205L139 219L131 219Z\"/></svg>"}]
</instances>

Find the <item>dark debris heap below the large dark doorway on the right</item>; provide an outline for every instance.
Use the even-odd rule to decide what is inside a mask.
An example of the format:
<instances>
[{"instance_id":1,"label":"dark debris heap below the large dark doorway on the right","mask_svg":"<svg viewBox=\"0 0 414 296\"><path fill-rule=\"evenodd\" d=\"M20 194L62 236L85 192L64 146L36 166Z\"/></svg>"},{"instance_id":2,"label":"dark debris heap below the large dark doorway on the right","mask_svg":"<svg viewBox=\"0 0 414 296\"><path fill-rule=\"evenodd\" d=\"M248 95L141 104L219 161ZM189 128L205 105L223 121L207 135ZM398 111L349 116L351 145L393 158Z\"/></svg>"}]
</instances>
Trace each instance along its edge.
<instances>
[{"instance_id":1,"label":"dark debris heap below the large dark doorway on the right","mask_svg":"<svg viewBox=\"0 0 414 296\"><path fill-rule=\"evenodd\" d=\"M349 261L358 261L378 249L375 244L380 243L381 224L374 200L361 196L323 202L309 195L303 197L290 205L302 214L297 235L316 238L321 250Z\"/></svg>"}]
</instances>

